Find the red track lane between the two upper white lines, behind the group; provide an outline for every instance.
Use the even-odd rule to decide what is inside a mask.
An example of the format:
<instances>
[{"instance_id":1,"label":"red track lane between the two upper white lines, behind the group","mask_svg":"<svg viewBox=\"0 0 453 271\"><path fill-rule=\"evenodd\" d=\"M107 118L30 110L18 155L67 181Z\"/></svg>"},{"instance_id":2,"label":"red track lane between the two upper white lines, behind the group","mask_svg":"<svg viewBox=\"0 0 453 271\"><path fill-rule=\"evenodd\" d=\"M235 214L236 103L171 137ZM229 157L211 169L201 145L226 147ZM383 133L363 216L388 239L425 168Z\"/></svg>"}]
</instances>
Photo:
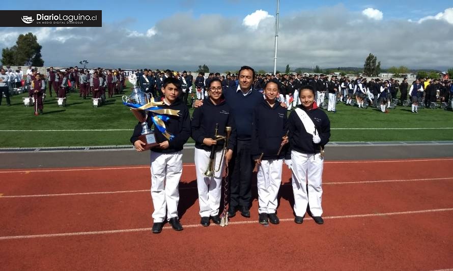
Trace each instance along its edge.
<instances>
[{"instance_id":1,"label":"red track lane between the two upper white lines, behind the group","mask_svg":"<svg viewBox=\"0 0 453 271\"><path fill-rule=\"evenodd\" d=\"M115 168L115 167L114 167ZM42 170L0 170L0 194L36 195L105 192L124 190L150 189L150 171L148 168L120 168L111 170L76 170L50 172ZM352 182L358 180L388 179L423 179L453 177L452 160L404 161L369 163L326 163L324 182ZM187 165L183 168L182 183L191 183L195 187L195 167ZM12 171L11 173L2 173ZM344 172L344 173L343 173ZM291 172L286 166L282 180L290 182Z\"/></svg>"}]
</instances>

